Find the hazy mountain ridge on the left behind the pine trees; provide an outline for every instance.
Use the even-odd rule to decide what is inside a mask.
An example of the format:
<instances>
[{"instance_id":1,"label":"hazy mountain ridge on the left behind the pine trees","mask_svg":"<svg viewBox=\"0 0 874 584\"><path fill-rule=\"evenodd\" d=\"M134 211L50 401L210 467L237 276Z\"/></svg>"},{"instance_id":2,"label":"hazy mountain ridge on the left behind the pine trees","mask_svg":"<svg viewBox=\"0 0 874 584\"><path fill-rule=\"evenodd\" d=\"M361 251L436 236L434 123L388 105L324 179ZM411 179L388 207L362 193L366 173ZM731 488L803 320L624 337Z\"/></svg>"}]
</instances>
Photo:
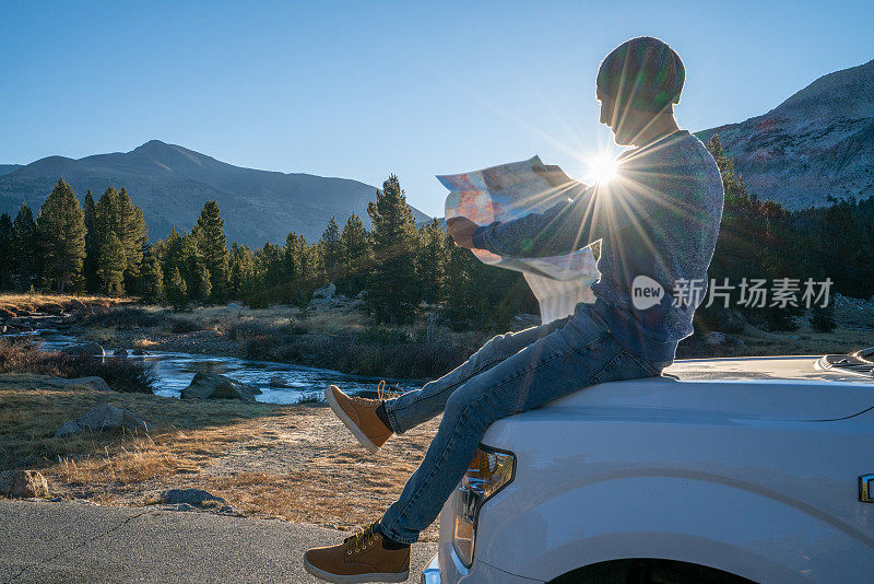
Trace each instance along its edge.
<instances>
[{"instance_id":1,"label":"hazy mountain ridge on the left behind the pine trees","mask_svg":"<svg viewBox=\"0 0 874 584\"><path fill-rule=\"evenodd\" d=\"M284 243L292 230L314 241L331 215L342 229L355 212L369 227L367 202L376 197L376 187L357 180L243 168L158 140L125 153L49 156L14 166L0 166L0 212L14 218L26 199L36 213L61 176L80 201L87 189L96 199L110 185L123 186L143 208L153 240L174 226L190 230L203 203L215 199L228 241L260 247L268 240ZM413 214L428 219L416 209Z\"/></svg>"}]
</instances>

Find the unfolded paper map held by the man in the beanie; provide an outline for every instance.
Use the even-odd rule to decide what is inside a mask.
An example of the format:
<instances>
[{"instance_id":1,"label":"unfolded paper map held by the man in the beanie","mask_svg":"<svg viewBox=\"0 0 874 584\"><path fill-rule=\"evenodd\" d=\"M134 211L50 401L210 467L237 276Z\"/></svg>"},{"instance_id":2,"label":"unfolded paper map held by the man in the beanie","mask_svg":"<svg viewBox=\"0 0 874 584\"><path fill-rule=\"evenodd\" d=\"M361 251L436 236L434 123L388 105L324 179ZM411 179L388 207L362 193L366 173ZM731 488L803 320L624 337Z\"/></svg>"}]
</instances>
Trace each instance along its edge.
<instances>
[{"instance_id":1,"label":"unfolded paper map held by the man in the beanie","mask_svg":"<svg viewBox=\"0 0 874 584\"><path fill-rule=\"evenodd\" d=\"M542 213L566 195L557 192L534 172L540 157L492 166L456 175L438 176L449 189L446 219L464 217L480 225L507 222L529 213ZM598 268L589 247L564 256L511 258L474 249L484 264L521 271L540 303L541 320L550 323L568 316L579 302L594 302L591 285Z\"/></svg>"}]
</instances>

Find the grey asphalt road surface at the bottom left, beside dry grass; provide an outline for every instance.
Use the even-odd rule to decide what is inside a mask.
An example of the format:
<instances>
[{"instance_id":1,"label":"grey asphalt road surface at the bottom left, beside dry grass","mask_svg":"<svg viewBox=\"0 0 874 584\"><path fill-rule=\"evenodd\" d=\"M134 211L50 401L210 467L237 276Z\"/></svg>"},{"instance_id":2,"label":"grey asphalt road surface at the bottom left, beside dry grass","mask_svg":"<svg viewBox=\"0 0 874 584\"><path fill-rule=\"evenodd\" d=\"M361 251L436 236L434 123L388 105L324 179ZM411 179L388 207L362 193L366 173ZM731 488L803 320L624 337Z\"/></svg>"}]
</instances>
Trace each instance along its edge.
<instances>
[{"instance_id":1,"label":"grey asphalt road surface at the bottom left, beside dry grass","mask_svg":"<svg viewBox=\"0 0 874 584\"><path fill-rule=\"evenodd\" d=\"M304 582L302 557L343 534L160 507L0 500L0 582ZM436 553L413 546L409 582Z\"/></svg>"}]
</instances>

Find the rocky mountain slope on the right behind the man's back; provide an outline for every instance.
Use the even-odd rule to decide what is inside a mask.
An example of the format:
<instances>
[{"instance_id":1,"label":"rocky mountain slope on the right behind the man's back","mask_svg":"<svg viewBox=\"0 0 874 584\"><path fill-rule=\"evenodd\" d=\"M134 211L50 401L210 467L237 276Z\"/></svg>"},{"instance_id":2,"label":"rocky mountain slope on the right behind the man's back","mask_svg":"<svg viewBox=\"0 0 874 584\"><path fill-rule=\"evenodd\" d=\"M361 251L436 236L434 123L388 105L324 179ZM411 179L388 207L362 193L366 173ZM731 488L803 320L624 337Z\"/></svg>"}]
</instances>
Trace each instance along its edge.
<instances>
[{"instance_id":1,"label":"rocky mountain slope on the right behind the man's back","mask_svg":"<svg viewBox=\"0 0 874 584\"><path fill-rule=\"evenodd\" d=\"M791 210L874 195L874 60L823 75L767 114L717 132L747 186Z\"/></svg>"}]
</instances>

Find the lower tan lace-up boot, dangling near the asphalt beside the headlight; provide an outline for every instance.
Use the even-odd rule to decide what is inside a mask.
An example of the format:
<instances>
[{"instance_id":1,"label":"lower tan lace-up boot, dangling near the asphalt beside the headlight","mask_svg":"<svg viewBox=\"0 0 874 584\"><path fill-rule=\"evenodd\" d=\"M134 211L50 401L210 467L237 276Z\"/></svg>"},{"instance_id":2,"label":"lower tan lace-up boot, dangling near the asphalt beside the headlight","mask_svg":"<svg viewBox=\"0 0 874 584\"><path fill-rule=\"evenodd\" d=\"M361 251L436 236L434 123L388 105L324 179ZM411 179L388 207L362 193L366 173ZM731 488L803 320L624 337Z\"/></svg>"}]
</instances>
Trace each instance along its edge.
<instances>
[{"instance_id":1,"label":"lower tan lace-up boot, dangling near the asphalt beside the headlight","mask_svg":"<svg viewBox=\"0 0 874 584\"><path fill-rule=\"evenodd\" d=\"M410 548L383 548L375 525L338 546L308 550L304 569L328 582L403 582L410 577Z\"/></svg>"}]
</instances>

